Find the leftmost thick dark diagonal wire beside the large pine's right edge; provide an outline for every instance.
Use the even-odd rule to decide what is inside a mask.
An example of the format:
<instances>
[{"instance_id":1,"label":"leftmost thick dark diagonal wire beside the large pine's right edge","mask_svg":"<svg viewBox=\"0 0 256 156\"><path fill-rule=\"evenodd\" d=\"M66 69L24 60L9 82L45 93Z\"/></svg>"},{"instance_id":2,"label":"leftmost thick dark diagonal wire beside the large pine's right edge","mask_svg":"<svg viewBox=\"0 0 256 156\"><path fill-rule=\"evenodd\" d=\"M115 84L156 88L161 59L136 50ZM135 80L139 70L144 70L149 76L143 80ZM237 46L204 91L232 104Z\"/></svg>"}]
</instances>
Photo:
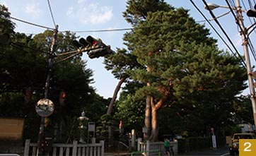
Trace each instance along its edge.
<instances>
[{"instance_id":1,"label":"leftmost thick dark diagonal wire beside the large pine's right edge","mask_svg":"<svg viewBox=\"0 0 256 156\"><path fill-rule=\"evenodd\" d=\"M224 44L226 44L226 46L228 47L228 49L232 52L232 54L238 58L235 53L233 52L233 50L231 49L231 47L228 46L227 42L223 39L223 37L221 37L221 35L219 34L219 32L214 28L213 25L211 25L211 23L209 22L209 20L206 18L206 16L204 16L204 13L202 13L202 11L200 11L200 9L197 7L196 4L194 4L194 1L190 0L190 2L192 3L192 5L194 6L194 8L197 9L197 11L199 11L199 13L204 17L204 19L207 21L207 23L211 26L211 28L214 30L214 32L216 32L216 34L221 38L222 42ZM214 20L216 20L215 16L213 17ZM226 36L227 37L227 36ZM229 37L228 37L229 39ZM231 40L229 39L229 42L231 42ZM231 44L233 45L233 42L231 42ZM235 48L235 46L233 45L233 48L235 49L236 54L238 54L240 60L241 60L241 65L246 68L246 64L245 61L243 60L243 57L239 54L238 50Z\"/></svg>"}]
</instances>

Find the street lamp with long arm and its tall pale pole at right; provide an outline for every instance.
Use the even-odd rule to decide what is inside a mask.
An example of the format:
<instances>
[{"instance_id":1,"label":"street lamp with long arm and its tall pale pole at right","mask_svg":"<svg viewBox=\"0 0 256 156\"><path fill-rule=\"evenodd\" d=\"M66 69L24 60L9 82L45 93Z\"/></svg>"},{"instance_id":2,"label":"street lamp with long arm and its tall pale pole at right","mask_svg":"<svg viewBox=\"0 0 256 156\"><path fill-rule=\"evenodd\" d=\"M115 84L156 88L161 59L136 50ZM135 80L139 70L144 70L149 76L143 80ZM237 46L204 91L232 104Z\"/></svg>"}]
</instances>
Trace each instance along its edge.
<instances>
[{"instance_id":1,"label":"street lamp with long arm and its tall pale pole at right","mask_svg":"<svg viewBox=\"0 0 256 156\"><path fill-rule=\"evenodd\" d=\"M207 10L212 10L214 8L230 8L228 6L219 6L217 4L206 4L207 6L204 6L204 8L206 8ZM240 6L240 1L239 0L235 0L235 9L238 12L238 18L236 18L238 21L236 21L235 23L237 23L239 25L240 28L240 35L242 37L242 41L243 41L243 51L245 54L245 63L246 63L246 69L247 69L247 73L248 73L248 82L249 82L249 88L250 88L250 100L252 102L252 112L253 112L253 119L254 119L254 124L256 126L256 98L255 98L255 87L253 85L253 79L252 79L252 68L251 68L251 64L250 64L250 56L249 56L249 51L248 51L248 28L245 28L245 25L243 24L243 15L242 12L247 12L241 9Z\"/></svg>"}]
</instances>

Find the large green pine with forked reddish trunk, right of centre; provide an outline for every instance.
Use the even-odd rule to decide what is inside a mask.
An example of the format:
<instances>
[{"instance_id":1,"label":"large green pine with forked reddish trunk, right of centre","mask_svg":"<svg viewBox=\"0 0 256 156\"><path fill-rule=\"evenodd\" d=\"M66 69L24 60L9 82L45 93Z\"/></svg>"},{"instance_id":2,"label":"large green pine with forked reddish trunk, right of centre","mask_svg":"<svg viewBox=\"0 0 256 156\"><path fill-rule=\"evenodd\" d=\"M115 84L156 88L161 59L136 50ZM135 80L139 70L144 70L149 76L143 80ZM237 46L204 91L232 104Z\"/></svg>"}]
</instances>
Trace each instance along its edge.
<instances>
[{"instance_id":1,"label":"large green pine with forked reddish trunk, right of centre","mask_svg":"<svg viewBox=\"0 0 256 156\"><path fill-rule=\"evenodd\" d=\"M148 13L124 40L147 68L128 73L147 84L136 94L147 97L150 104L151 140L158 138L157 112L166 102L211 104L214 111L245 88L240 60L219 51L209 30L195 23L183 8Z\"/></svg>"}]
</instances>

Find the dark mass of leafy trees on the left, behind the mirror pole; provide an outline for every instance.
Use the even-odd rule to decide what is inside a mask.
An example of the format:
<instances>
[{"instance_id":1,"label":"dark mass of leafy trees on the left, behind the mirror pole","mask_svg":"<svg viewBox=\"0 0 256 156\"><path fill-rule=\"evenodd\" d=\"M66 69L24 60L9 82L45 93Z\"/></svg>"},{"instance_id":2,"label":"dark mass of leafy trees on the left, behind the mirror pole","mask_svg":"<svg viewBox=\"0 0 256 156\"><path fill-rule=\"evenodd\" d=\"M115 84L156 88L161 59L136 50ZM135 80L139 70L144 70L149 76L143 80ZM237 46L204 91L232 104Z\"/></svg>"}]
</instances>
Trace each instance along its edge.
<instances>
[{"instance_id":1,"label":"dark mass of leafy trees on the left, behind the mirror pole","mask_svg":"<svg viewBox=\"0 0 256 156\"><path fill-rule=\"evenodd\" d=\"M1 6L1 11L1 25L5 25L1 31L13 34L11 44L0 45L0 114L25 116L25 138L37 138L40 117L35 113L35 103L44 97L47 59L53 32L46 30L34 37L14 32L14 23L9 20L8 9ZM57 34L58 44L54 52L56 57L49 92L49 99L55 105L54 114L49 118L57 124L68 125L69 122L74 122L73 119L77 119L82 110L92 116L88 116L89 119L97 121L106 111L106 101L96 95L91 87L93 72L86 68L86 61L81 60L81 54L62 61L67 56L62 55L64 52L74 50L71 46L74 39L76 36L71 32ZM27 90L29 101L25 101L23 95L23 91ZM62 90L66 92L64 104L59 103L59 92ZM58 133L66 133L60 128L61 126ZM67 131L69 129L72 128ZM35 133L29 133L31 131Z\"/></svg>"}]
</instances>

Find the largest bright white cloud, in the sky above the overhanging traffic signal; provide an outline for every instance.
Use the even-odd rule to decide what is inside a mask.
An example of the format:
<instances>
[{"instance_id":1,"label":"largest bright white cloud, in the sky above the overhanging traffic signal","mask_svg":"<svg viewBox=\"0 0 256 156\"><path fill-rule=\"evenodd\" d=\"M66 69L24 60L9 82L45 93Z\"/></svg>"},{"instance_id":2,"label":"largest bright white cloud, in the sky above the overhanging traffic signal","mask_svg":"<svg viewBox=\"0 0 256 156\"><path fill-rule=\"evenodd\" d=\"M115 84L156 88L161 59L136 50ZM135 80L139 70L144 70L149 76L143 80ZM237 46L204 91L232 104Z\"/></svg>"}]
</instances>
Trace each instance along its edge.
<instances>
[{"instance_id":1,"label":"largest bright white cloud, in the sky above the overhanging traffic signal","mask_svg":"<svg viewBox=\"0 0 256 156\"><path fill-rule=\"evenodd\" d=\"M106 23L111 20L113 16L112 6L101 6L98 3L88 4L88 1L78 0L76 7L69 7L66 15L72 18L78 18L81 23Z\"/></svg>"}]
</instances>

